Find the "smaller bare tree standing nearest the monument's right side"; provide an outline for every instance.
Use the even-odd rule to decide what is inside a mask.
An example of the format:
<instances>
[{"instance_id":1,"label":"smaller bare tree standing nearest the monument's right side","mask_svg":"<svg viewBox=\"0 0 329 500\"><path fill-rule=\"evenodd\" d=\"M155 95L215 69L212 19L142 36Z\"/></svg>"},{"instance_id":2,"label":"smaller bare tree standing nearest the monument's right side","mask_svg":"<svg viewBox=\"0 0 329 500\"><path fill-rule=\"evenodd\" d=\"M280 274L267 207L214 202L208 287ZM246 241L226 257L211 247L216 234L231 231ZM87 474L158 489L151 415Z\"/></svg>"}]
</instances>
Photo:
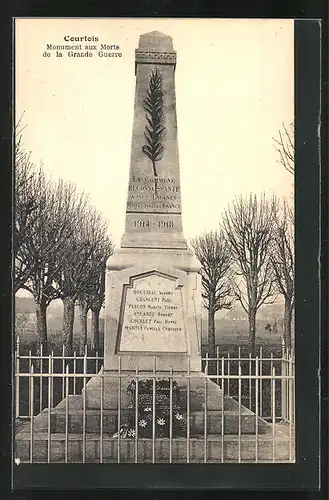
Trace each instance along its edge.
<instances>
[{"instance_id":1,"label":"smaller bare tree standing nearest the monument's right side","mask_svg":"<svg viewBox=\"0 0 329 500\"><path fill-rule=\"evenodd\" d=\"M208 346L216 355L215 314L232 306L230 246L223 231L210 231L191 240L195 255L201 264L202 297L208 310Z\"/></svg>"}]
</instances>

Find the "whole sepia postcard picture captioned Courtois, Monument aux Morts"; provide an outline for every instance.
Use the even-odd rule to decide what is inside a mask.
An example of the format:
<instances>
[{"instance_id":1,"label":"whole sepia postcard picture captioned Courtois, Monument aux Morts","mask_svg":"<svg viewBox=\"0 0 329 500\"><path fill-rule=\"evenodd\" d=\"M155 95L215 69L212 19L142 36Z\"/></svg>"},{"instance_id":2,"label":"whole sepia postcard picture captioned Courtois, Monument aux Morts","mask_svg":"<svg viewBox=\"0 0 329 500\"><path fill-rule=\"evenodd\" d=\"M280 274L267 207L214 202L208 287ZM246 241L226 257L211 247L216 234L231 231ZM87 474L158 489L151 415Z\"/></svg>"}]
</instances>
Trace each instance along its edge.
<instances>
[{"instance_id":1,"label":"whole sepia postcard picture captioned Courtois, Monument aux Morts","mask_svg":"<svg viewBox=\"0 0 329 500\"><path fill-rule=\"evenodd\" d=\"M15 20L16 465L295 462L294 57Z\"/></svg>"}]
</instances>

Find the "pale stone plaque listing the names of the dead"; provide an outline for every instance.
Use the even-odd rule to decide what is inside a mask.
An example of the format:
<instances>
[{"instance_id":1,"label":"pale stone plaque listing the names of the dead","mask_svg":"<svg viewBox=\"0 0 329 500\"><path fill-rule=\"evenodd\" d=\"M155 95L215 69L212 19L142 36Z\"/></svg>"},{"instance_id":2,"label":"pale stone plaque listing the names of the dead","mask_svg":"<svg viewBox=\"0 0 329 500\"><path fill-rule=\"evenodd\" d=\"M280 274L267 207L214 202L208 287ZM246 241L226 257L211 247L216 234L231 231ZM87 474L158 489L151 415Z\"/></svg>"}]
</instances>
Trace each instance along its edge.
<instances>
[{"instance_id":1,"label":"pale stone plaque listing the names of the dead","mask_svg":"<svg viewBox=\"0 0 329 500\"><path fill-rule=\"evenodd\" d=\"M186 352L181 288L152 273L125 285L119 351Z\"/></svg>"}]
</instances>

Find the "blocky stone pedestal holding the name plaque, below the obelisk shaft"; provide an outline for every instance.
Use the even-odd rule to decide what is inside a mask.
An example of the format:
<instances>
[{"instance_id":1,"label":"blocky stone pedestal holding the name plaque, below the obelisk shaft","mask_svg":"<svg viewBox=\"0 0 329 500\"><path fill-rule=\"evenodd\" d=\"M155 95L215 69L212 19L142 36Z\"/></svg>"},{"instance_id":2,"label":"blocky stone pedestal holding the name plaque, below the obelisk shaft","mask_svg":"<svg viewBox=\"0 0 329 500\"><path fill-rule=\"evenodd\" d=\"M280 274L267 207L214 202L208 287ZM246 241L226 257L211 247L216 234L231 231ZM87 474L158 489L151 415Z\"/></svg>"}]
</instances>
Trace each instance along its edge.
<instances>
[{"instance_id":1,"label":"blocky stone pedestal holding the name plaque, below the obelisk shaft","mask_svg":"<svg viewBox=\"0 0 329 500\"><path fill-rule=\"evenodd\" d=\"M121 248L108 259L104 370L201 371L199 270L188 249Z\"/></svg>"}]
</instances>

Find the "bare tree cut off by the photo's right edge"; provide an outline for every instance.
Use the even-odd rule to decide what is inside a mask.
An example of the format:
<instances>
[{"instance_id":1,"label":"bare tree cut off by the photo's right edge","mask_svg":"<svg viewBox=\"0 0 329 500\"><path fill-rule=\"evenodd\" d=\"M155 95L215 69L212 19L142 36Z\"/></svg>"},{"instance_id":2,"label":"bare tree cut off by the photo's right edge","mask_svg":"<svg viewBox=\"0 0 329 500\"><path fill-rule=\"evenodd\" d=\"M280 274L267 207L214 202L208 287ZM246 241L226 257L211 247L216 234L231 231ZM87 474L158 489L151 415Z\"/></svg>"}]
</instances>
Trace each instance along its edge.
<instances>
[{"instance_id":1,"label":"bare tree cut off by the photo's right edge","mask_svg":"<svg viewBox=\"0 0 329 500\"><path fill-rule=\"evenodd\" d=\"M292 209L286 198L274 214L271 262L279 292L284 297L283 340L291 348L291 321L295 305L294 225Z\"/></svg>"}]
</instances>

